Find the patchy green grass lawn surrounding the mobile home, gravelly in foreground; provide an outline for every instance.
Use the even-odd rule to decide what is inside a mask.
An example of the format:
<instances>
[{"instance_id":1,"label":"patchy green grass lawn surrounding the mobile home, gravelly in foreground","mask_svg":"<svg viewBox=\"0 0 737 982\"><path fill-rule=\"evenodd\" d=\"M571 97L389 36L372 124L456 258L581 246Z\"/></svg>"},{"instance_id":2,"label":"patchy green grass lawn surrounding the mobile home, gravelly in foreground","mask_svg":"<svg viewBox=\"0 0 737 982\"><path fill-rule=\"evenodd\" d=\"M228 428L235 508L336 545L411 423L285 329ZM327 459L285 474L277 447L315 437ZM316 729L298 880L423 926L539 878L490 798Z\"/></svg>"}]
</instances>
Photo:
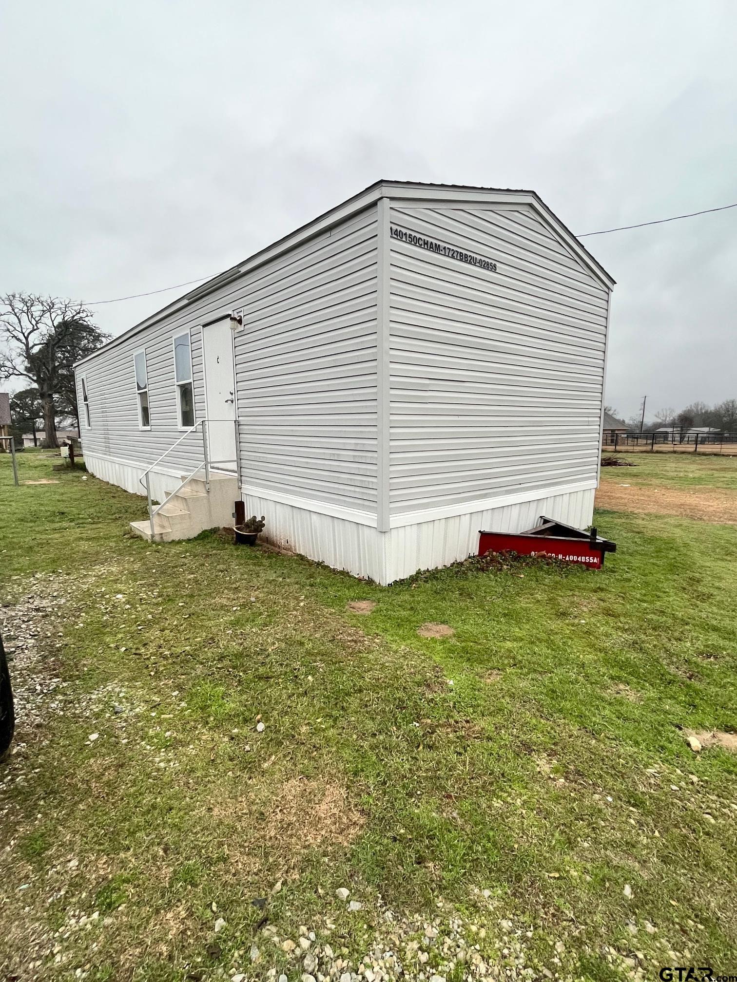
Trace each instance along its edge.
<instances>
[{"instance_id":1,"label":"patchy green grass lawn surrounding the mobile home, gravelly in foreground","mask_svg":"<svg viewBox=\"0 0 737 982\"><path fill-rule=\"evenodd\" d=\"M734 460L632 456L602 478L735 487ZM737 755L681 729L737 730L734 526L599 512L599 573L382 588L147 545L142 499L19 461L58 483L0 455L9 977L737 971Z\"/></svg>"}]
</instances>

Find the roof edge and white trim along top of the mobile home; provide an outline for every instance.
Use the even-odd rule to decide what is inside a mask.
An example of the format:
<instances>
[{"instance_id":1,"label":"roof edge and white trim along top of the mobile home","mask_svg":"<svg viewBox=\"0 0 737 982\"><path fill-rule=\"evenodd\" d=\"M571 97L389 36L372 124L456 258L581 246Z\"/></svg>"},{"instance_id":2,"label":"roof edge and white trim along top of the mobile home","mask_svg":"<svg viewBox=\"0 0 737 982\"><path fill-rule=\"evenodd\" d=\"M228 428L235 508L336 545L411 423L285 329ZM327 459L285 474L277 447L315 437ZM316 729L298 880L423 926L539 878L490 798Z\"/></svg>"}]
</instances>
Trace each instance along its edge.
<instances>
[{"instance_id":1,"label":"roof edge and white trim along top of the mobile home","mask_svg":"<svg viewBox=\"0 0 737 982\"><path fill-rule=\"evenodd\" d=\"M111 338L110 341L102 345L101 348L98 348L97 351L92 352L91 355L86 355L84 358L80 358L79 361L75 362L75 367L85 364L86 361L89 361L91 358L95 358L97 355L108 351L110 348L114 348L116 345L122 344L122 342L134 337L136 334L145 330L145 328L152 326L157 321L162 320L169 314L175 313L177 310L188 306L193 300L198 300L200 297L205 297L218 287L224 286L232 279L249 272L251 269L263 262L267 262L269 259L274 258L276 255L286 251L288 248L306 242L312 238L313 235L317 235L320 232L325 231L325 229L329 228L331 225L345 221L346 218L363 211L365 208L368 208L370 205L378 201L379 198L403 198L407 196L406 194L403 195L401 192L399 194L392 194L392 189L398 189L400 191L407 191L411 189L426 189L430 192L450 191L452 197L456 197L458 200L462 200L463 195L469 193L481 193L484 196L487 195L491 199L493 195L511 195L512 197L527 196L530 198L530 201L525 203L533 203L538 207L539 212L545 216L554 227L557 227L558 234L560 234L563 239L568 240L568 245L572 246L575 251L579 252L581 258L584 259L592 268L595 275L599 279L603 280L607 289L610 290L616 282L606 272L603 266L594 258L588 248L583 246L578 239L576 239L576 236L571 232L571 230L564 225L563 222L561 222L558 216L551 211L550 208L548 208L537 191L526 191L515 188L484 188L475 185L429 184L422 181L389 181L386 179L380 179L378 181L374 181L373 184L369 185L369 187L365 188L363 191L359 191L357 194L346 198L345 201L341 201L340 204L336 204L327 211L323 211L322 214L317 215L316 218L313 218L305 225L301 225L299 228L294 229L286 236L282 236L282 238L277 239L276 242L253 252L242 262L236 263L235 266L231 266L229 269L223 270L222 273L218 273L217 276L211 277L209 280L201 283L198 287L195 287L194 290L190 290L186 294L183 294L181 297L177 298L177 300L172 300L170 303L167 303L166 306L163 306L154 313L149 314L142 321L139 321L138 324L130 327L127 331L124 331L115 338Z\"/></svg>"}]
</instances>

